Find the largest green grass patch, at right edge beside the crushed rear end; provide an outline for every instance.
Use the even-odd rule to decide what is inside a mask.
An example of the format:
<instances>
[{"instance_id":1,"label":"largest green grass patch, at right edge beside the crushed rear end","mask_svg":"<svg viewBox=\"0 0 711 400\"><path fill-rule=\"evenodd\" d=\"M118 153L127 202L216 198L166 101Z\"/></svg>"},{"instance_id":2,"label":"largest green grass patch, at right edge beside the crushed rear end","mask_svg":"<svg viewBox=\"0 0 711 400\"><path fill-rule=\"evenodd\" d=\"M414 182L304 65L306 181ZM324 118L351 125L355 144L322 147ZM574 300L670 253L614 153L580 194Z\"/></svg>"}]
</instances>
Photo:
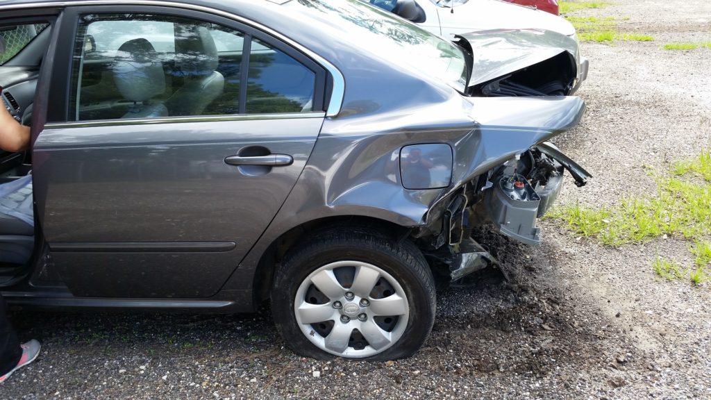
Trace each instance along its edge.
<instances>
[{"instance_id":1,"label":"largest green grass patch, at right edge beside the crushed rear end","mask_svg":"<svg viewBox=\"0 0 711 400\"><path fill-rule=\"evenodd\" d=\"M652 173L652 172L651 172ZM562 219L574 233L597 238L609 246L640 243L660 236L680 236L694 241L695 270L690 273L699 285L710 277L711 265L711 152L677 162L668 176L656 176L657 195L630 197L616 206L587 209L576 204L556 209L551 217ZM656 275L667 280L680 277L679 266L658 258ZM687 273L684 273L686 275Z\"/></svg>"}]
</instances>

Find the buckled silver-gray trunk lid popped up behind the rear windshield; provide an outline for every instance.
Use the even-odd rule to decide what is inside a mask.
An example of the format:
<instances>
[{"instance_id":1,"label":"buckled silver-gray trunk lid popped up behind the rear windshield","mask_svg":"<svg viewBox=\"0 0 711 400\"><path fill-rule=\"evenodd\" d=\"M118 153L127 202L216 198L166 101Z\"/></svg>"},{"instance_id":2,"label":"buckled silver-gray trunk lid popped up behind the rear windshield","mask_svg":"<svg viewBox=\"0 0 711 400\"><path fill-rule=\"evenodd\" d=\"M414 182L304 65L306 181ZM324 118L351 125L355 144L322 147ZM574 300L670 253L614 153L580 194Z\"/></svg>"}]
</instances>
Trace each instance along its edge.
<instances>
[{"instance_id":1,"label":"buckled silver-gray trunk lid popped up behind the rear windshield","mask_svg":"<svg viewBox=\"0 0 711 400\"><path fill-rule=\"evenodd\" d=\"M474 58L469 86L499 78L567 51L578 56L574 38L542 29L494 29L456 35ZM460 42L461 43L461 42Z\"/></svg>"}]
</instances>

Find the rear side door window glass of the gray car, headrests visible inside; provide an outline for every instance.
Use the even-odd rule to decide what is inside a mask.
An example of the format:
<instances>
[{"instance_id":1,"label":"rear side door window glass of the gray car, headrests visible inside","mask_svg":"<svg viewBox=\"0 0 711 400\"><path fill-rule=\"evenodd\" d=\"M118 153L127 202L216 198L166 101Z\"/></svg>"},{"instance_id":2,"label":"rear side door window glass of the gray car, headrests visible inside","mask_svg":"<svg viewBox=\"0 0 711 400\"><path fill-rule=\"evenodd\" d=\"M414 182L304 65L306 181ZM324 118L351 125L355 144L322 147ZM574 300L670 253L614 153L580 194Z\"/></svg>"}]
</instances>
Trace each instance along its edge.
<instances>
[{"instance_id":1,"label":"rear side door window glass of the gray car, headrests visible inside","mask_svg":"<svg viewBox=\"0 0 711 400\"><path fill-rule=\"evenodd\" d=\"M316 73L233 28L178 16L87 14L78 33L71 120L313 110Z\"/></svg>"}]
</instances>

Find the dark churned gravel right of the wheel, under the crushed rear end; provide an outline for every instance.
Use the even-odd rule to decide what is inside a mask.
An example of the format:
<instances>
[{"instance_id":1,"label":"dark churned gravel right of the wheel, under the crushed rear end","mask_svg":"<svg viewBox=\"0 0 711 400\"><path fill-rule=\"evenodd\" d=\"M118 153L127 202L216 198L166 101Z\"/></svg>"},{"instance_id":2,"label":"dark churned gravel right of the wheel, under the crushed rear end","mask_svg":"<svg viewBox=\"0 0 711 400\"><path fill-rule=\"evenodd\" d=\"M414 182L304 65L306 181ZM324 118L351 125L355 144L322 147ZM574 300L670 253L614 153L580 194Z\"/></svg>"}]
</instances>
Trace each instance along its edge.
<instances>
[{"instance_id":1,"label":"dark churned gravel right of the wheel, under the crushed rear end","mask_svg":"<svg viewBox=\"0 0 711 400\"><path fill-rule=\"evenodd\" d=\"M557 249L550 243L525 246L488 229L474 237L499 260L508 280L485 270L468 287L438 293L437 321L418 357L439 353L471 365L452 369L456 374L539 377L563 364L585 369L591 362L609 363L606 334L592 321L595 313L589 315L564 293L555 271L565 265L550 256Z\"/></svg>"}]
</instances>

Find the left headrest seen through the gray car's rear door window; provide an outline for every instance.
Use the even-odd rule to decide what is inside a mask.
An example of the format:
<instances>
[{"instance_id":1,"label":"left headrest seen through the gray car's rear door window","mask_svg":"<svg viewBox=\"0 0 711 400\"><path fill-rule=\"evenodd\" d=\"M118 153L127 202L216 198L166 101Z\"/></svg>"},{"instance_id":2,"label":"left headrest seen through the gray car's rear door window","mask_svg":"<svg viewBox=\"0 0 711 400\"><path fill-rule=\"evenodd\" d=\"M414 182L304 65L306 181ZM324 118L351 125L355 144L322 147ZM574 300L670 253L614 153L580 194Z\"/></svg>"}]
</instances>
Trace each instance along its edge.
<instances>
[{"instance_id":1,"label":"left headrest seen through the gray car's rear door window","mask_svg":"<svg viewBox=\"0 0 711 400\"><path fill-rule=\"evenodd\" d=\"M119 47L114 63L114 82L126 100L145 101L166 91L166 77L158 54L144 38Z\"/></svg>"}]
</instances>

